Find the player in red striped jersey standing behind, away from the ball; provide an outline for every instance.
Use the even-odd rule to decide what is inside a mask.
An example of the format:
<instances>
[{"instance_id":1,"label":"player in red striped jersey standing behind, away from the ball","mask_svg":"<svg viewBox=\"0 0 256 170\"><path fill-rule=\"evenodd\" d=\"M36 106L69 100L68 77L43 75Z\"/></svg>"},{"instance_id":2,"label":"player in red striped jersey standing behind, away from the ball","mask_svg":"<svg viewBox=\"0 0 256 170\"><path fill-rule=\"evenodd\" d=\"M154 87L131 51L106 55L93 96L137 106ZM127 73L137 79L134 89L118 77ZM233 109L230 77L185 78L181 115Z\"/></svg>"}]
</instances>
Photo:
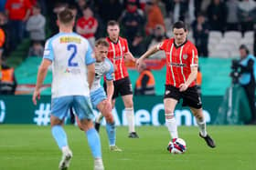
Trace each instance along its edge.
<instances>
[{"instance_id":1,"label":"player in red striped jersey standing behind, away from the ball","mask_svg":"<svg viewBox=\"0 0 256 170\"><path fill-rule=\"evenodd\" d=\"M114 92L112 96L112 106L115 103L115 98L118 95L122 95L123 104L125 107L125 115L129 127L130 138L138 138L139 136L135 132L134 125L134 111L133 111L133 89L129 79L127 69L124 65L124 58L130 59L135 62L135 58L129 51L127 40L119 36L120 27L116 21L109 21L107 25L107 32L109 37L106 40L109 42L108 58L111 60L114 66L113 85ZM104 85L106 86L106 85ZM100 128L101 115L96 119L95 127Z\"/></svg>"}]
</instances>

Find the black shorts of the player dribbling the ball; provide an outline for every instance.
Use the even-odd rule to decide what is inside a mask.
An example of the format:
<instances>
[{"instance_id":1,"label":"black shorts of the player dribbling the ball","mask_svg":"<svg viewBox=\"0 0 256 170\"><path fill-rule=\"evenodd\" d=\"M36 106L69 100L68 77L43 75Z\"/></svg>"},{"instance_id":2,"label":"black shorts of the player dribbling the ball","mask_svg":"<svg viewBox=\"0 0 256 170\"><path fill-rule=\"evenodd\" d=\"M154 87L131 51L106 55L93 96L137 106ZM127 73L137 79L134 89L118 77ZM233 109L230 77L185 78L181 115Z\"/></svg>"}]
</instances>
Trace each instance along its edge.
<instances>
[{"instance_id":1,"label":"black shorts of the player dribbling the ball","mask_svg":"<svg viewBox=\"0 0 256 170\"><path fill-rule=\"evenodd\" d=\"M194 108L202 108L201 97L197 92L197 86L188 87L185 92L180 92L179 88L172 85L165 85L165 97L173 98L178 102L180 98L183 99L182 106L191 106Z\"/></svg>"}]
</instances>

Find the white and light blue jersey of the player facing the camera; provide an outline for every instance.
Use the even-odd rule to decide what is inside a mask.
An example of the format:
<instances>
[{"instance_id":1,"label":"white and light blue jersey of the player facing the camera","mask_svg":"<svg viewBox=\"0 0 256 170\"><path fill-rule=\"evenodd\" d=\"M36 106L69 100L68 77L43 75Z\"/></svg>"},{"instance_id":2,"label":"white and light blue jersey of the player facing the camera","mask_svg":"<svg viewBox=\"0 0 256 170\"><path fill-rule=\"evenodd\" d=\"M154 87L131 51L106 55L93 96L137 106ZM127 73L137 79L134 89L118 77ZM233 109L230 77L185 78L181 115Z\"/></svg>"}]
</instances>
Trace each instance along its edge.
<instances>
[{"instance_id":1,"label":"white and light blue jersey of the player facing the camera","mask_svg":"<svg viewBox=\"0 0 256 170\"><path fill-rule=\"evenodd\" d=\"M91 85L91 92L94 92L101 88L101 77L105 75L107 80L113 79L113 66L112 62L105 58L102 62L95 63L95 77L93 80L93 84Z\"/></svg>"}]
</instances>

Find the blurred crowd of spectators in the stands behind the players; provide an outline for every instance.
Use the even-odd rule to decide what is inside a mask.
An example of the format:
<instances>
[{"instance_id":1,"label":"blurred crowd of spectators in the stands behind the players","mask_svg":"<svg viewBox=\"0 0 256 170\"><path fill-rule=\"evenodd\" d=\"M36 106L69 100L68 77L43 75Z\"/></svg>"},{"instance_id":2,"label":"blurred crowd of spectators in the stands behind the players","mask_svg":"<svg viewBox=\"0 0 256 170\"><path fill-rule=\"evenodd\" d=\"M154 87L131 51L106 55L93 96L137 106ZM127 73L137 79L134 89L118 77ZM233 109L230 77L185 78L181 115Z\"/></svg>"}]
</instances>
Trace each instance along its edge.
<instances>
[{"instance_id":1,"label":"blurred crowd of spectators in the stands behind the players","mask_svg":"<svg viewBox=\"0 0 256 170\"><path fill-rule=\"evenodd\" d=\"M91 45L106 35L109 20L119 21L121 35L127 38L135 56L170 36L177 20L187 23L198 54L203 56L208 56L209 31L244 33L255 30L256 21L253 0L1 0L2 54L9 55L24 37L29 37L28 55L42 56L46 38L58 33L57 14L67 7L76 15L74 32L86 37Z\"/></svg>"}]
</instances>

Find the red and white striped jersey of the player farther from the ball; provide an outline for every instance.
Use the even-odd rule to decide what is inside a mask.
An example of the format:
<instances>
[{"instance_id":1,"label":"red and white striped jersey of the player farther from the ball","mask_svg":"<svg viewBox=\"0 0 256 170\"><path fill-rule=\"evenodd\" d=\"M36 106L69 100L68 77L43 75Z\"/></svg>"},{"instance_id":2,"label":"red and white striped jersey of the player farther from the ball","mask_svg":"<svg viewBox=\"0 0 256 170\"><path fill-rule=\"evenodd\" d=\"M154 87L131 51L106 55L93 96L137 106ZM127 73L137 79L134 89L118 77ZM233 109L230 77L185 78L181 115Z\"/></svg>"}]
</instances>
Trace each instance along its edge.
<instances>
[{"instance_id":1,"label":"red and white striped jersey of the player farther from the ball","mask_svg":"<svg viewBox=\"0 0 256 170\"><path fill-rule=\"evenodd\" d=\"M107 37L106 40L110 44L108 58L115 67L113 80L123 79L128 76L128 72L123 61L123 55L129 52L127 40L121 36L119 36L116 43L112 42L109 37Z\"/></svg>"}]
</instances>

